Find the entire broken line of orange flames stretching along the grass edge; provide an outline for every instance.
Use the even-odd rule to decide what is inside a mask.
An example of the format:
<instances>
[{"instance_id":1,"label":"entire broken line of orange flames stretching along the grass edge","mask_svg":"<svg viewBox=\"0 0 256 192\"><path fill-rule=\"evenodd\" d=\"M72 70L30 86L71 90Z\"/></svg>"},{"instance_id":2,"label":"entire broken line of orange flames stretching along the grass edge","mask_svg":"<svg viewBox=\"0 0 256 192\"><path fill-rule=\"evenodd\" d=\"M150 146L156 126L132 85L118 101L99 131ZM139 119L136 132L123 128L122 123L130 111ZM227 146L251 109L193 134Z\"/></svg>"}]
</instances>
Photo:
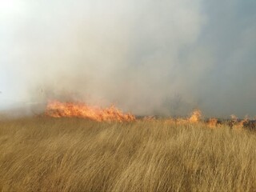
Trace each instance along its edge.
<instances>
[{"instance_id":1,"label":"entire broken line of orange flames stretching along the grass edge","mask_svg":"<svg viewBox=\"0 0 256 192\"><path fill-rule=\"evenodd\" d=\"M52 118L86 118L97 122L134 122L138 119L133 114L124 114L121 110L118 110L114 105L103 109L99 106L89 106L83 102L60 102L53 100L48 102L46 106L46 116ZM174 122L175 124L182 125L187 123L205 123L210 128L222 127L222 124L228 124L230 128L242 129L245 125L255 128L254 123L251 123L248 118L238 120L238 118L232 114L231 120L219 123L217 118L210 118L208 121L202 120L201 110L194 110L189 118L167 118L166 122ZM154 116L143 118L144 121L154 121ZM256 124L256 123L255 123Z\"/></svg>"}]
</instances>

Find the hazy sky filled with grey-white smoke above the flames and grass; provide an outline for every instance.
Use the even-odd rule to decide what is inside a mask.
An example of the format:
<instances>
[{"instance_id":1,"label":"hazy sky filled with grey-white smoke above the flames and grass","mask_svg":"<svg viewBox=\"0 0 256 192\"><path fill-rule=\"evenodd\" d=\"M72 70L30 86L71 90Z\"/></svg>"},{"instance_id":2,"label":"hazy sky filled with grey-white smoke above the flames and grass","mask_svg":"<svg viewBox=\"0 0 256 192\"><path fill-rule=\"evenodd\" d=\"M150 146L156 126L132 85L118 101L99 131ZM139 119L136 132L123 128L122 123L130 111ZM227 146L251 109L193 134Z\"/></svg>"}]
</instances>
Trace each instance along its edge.
<instances>
[{"instance_id":1,"label":"hazy sky filled with grey-white smoke above the flames and grass","mask_svg":"<svg viewBox=\"0 0 256 192\"><path fill-rule=\"evenodd\" d=\"M256 115L254 0L0 0L0 110Z\"/></svg>"}]
</instances>

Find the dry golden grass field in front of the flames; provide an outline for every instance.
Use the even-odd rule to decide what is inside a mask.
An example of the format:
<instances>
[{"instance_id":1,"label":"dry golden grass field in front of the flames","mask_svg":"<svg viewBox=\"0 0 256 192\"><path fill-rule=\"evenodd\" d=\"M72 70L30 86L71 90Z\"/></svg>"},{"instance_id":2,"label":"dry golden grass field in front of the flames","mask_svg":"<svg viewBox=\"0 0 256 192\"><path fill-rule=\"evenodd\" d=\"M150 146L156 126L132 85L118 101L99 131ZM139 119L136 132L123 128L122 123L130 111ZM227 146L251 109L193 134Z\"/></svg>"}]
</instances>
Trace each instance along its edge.
<instances>
[{"instance_id":1,"label":"dry golden grass field in front of the flames","mask_svg":"<svg viewBox=\"0 0 256 192\"><path fill-rule=\"evenodd\" d=\"M165 120L0 121L0 191L256 191L256 134Z\"/></svg>"}]
</instances>

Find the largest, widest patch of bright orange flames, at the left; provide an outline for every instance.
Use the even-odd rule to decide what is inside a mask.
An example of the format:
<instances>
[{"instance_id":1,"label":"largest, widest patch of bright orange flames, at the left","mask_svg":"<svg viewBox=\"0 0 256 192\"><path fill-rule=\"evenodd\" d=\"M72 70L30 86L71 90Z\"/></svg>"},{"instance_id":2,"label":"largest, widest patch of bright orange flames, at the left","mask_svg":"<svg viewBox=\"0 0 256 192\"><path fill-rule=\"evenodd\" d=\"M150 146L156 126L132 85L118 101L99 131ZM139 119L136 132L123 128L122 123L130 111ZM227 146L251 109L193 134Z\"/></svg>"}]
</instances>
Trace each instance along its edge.
<instances>
[{"instance_id":1,"label":"largest, widest patch of bright orange flames, at the left","mask_svg":"<svg viewBox=\"0 0 256 192\"><path fill-rule=\"evenodd\" d=\"M46 115L54 118L89 118L98 122L130 122L135 120L134 115L123 114L114 106L102 109L98 106L88 106L83 102L59 102L56 100L48 102Z\"/></svg>"}]
</instances>

